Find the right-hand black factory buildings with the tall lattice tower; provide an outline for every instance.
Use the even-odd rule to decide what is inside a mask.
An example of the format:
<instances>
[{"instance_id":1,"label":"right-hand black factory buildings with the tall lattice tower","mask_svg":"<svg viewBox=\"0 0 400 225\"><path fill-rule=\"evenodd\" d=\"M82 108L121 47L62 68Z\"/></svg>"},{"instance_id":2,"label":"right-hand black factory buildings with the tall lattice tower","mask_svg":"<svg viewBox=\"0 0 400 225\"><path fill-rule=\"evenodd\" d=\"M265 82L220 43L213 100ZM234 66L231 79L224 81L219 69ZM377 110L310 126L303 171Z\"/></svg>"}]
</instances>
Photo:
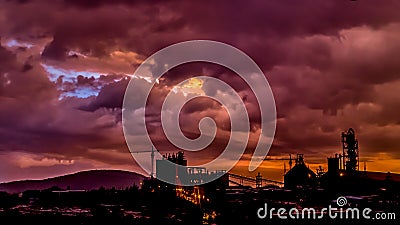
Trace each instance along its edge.
<instances>
[{"instance_id":1,"label":"right-hand black factory buildings with the tall lattice tower","mask_svg":"<svg viewBox=\"0 0 400 225\"><path fill-rule=\"evenodd\" d=\"M298 154L295 166L284 174L286 189L322 188L334 192L370 193L400 188L400 174L360 171L359 146L354 129L341 134L342 152L327 158L328 171L314 173ZM291 162L289 162L291 164Z\"/></svg>"}]
</instances>

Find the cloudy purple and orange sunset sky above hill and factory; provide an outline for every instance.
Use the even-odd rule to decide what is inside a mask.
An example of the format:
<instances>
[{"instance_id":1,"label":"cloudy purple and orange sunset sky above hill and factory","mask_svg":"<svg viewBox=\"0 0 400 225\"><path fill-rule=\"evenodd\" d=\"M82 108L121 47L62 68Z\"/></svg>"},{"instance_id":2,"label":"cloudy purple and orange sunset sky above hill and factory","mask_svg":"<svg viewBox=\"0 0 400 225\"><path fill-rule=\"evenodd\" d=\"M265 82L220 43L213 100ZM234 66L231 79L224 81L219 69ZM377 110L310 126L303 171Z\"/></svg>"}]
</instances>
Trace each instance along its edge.
<instances>
[{"instance_id":1,"label":"cloudy purple and orange sunset sky above hill and factory","mask_svg":"<svg viewBox=\"0 0 400 225\"><path fill-rule=\"evenodd\" d=\"M399 11L394 0L0 0L0 182L88 169L143 173L124 139L125 89L151 81L133 76L151 54L196 39L235 46L264 72L277 112L270 156L304 153L311 169L326 166L341 151L340 133L353 127L361 167L400 173ZM259 110L222 66L189 63L157 80L146 117L156 147L175 150L158 126L169 92L177 100L222 93L194 76L229 83L245 102L251 140L233 171L250 174ZM191 138L205 116L217 126L211 146L188 153L189 163L217 156L229 136L224 107L198 98L179 115ZM255 172L281 180L283 163L265 161Z\"/></svg>"}]
</instances>

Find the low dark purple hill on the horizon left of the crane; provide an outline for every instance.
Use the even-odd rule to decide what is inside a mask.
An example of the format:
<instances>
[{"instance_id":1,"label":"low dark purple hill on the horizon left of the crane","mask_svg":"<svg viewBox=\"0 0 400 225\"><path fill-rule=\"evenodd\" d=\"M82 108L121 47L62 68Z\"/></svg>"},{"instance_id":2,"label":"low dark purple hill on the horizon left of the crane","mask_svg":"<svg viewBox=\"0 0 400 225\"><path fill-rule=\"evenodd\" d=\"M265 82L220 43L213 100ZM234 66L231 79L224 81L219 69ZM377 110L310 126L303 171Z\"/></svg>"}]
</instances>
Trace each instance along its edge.
<instances>
[{"instance_id":1,"label":"low dark purple hill on the horizon left of the crane","mask_svg":"<svg viewBox=\"0 0 400 225\"><path fill-rule=\"evenodd\" d=\"M88 170L43 180L21 180L0 183L0 191L19 193L26 190L44 190L53 186L71 190L93 190L100 187L126 188L139 185L144 176L123 170Z\"/></svg>"}]
</instances>

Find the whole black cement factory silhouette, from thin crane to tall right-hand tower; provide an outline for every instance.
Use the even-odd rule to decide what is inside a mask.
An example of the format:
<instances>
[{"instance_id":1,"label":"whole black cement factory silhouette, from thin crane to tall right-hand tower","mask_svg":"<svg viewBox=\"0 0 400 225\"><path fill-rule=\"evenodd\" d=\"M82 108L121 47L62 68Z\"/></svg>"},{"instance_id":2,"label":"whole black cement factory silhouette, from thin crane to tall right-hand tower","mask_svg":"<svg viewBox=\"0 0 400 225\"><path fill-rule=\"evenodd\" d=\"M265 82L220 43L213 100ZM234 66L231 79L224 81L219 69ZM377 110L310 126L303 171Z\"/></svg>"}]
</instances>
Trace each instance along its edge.
<instances>
[{"instance_id":1,"label":"whole black cement factory silhouette, from thin crane to tall right-hand tower","mask_svg":"<svg viewBox=\"0 0 400 225\"><path fill-rule=\"evenodd\" d=\"M264 188L284 187L287 190L324 188L332 190L343 190L357 192L361 190L375 190L384 188L387 185L398 185L400 182L400 174L392 174L390 172L370 172L360 171L358 140L353 128L341 134L342 152L335 154L334 157L327 158L328 170L325 172L321 166L314 172L307 167L304 161L304 154L297 154L296 158L278 158L273 160L288 160L290 166L289 171L284 172L284 182L265 179L260 173L255 178L241 176L226 171L208 172L205 167L187 166L187 160L183 152L164 155L163 159L156 160L156 175L161 180L168 183L191 183L193 185L204 184L207 176L221 176L217 182L221 187L239 186L239 187L256 187ZM155 151L154 149L152 151ZM153 153L152 153L153 155ZM151 160L154 160L152 157ZM271 160L266 158L265 160ZM172 162L172 163L169 163ZM294 166L292 167L294 163ZM181 165L183 167L177 167ZM286 164L285 164L286 165ZM153 173L152 173L153 174ZM153 178L153 176L151 176ZM159 183L157 179L145 180L145 183ZM368 183L368 185L366 185ZM390 186L389 185L389 186ZM151 186L151 185L149 185ZM179 186L179 185L177 185Z\"/></svg>"}]
</instances>

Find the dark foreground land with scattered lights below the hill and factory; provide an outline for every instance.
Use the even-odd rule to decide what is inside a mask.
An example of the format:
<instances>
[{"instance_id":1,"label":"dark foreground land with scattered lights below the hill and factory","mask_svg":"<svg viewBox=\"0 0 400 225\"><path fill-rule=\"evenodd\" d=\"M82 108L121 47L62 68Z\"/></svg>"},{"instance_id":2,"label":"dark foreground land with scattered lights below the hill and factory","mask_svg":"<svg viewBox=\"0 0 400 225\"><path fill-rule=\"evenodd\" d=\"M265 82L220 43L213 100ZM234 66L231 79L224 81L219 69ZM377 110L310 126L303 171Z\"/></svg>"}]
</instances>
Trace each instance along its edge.
<instances>
[{"instance_id":1,"label":"dark foreground land with scattered lights below the hill and factory","mask_svg":"<svg viewBox=\"0 0 400 225\"><path fill-rule=\"evenodd\" d=\"M288 191L279 188L228 188L200 194L194 201L193 189L184 197L174 188L124 190L98 189L65 191L53 187L44 191L25 191L19 194L0 193L0 224L399 224L400 207L397 192L346 195L348 207L373 209L371 219L279 219L276 210L260 219L257 211L267 204L271 208L299 210L313 207L320 216L323 207L338 207L338 193L324 190ZM202 190L203 191L203 190ZM343 194L343 193L340 193ZM204 195L204 197L203 197ZM188 197L189 196L189 197ZM192 196L192 197L190 197ZM198 195L196 195L198 196ZM344 208L344 207L343 207ZM345 208L344 208L345 209ZM339 210L339 208L338 208ZM287 212L286 211L286 212ZM262 213L264 211L261 211ZM301 212L301 211L300 211ZM376 213L394 213L395 218L373 219ZM284 214L288 216L287 214ZM343 214L345 215L345 214ZM393 217L393 215L390 215ZM343 216L345 217L345 216Z\"/></svg>"}]
</instances>

